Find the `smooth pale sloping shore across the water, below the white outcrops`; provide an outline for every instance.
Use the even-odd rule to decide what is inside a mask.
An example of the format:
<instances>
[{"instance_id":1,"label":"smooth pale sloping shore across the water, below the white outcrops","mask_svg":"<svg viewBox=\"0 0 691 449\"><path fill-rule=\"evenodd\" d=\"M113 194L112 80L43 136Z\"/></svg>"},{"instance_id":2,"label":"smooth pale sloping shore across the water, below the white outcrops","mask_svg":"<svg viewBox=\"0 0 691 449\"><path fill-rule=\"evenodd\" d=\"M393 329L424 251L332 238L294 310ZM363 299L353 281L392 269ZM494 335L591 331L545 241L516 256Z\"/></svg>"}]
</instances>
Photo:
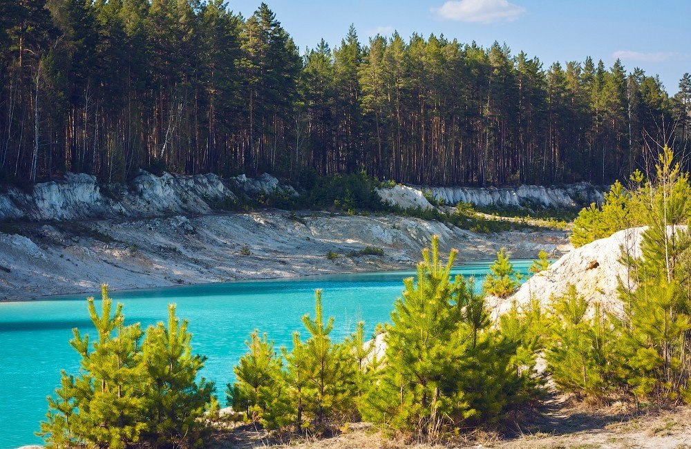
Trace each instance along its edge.
<instances>
[{"instance_id":1,"label":"smooth pale sloping shore across the water, below the white outcrops","mask_svg":"<svg viewBox=\"0 0 691 449\"><path fill-rule=\"evenodd\" d=\"M439 235L457 262L491 260L501 247L514 259L571 249L567 232L551 229L481 234L441 222L392 214L297 213L169 216L138 220L51 222L0 233L0 301L37 301L112 292L415 269L420 251ZM360 255L366 247L384 251ZM328 254L338 254L328 258Z\"/></svg>"}]
</instances>

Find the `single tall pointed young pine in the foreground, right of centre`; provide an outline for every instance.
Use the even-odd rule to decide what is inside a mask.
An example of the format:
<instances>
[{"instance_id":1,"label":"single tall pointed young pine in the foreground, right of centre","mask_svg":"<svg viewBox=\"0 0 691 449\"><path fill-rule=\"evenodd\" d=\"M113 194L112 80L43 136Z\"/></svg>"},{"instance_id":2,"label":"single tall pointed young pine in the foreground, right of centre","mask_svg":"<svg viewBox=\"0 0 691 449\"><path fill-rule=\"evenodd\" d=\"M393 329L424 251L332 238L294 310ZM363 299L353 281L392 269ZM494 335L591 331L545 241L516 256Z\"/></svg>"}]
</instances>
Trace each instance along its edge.
<instances>
[{"instance_id":1,"label":"single tall pointed young pine in the foreground, right of centre","mask_svg":"<svg viewBox=\"0 0 691 449\"><path fill-rule=\"evenodd\" d=\"M458 331L470 293L461 276L451 280L457 251L439 260L439 240L422 253L417 280L406 278L405 290L386 329L382 377L369 395L366 419L397 430L436 437L447 417L475 413L457 389L455 374L470 345Z\"/></svg>"}]
</instances>

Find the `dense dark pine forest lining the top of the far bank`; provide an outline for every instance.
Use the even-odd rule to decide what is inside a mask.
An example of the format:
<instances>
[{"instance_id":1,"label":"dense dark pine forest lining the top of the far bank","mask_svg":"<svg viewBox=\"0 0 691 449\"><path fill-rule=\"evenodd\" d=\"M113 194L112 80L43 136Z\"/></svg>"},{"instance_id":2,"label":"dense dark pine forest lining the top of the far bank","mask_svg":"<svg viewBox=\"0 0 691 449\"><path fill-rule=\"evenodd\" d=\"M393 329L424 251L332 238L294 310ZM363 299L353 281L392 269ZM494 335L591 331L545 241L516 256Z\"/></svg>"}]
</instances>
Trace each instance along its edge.
<instances>
[{"instance_id":1,"label":"dense dark pine forest lining the top of the far bank","mask_svg":"<svg viewBox=\"0 0 691 449\"><path fill-rule=\"evenodd\" d=\"M625 178L645 140L683 146L674 97L620 61L545 68L507 46L395 33L302 52L262 4L0 2L0 181L139 169L417 184Z\"/></svg>"}]
</instances>

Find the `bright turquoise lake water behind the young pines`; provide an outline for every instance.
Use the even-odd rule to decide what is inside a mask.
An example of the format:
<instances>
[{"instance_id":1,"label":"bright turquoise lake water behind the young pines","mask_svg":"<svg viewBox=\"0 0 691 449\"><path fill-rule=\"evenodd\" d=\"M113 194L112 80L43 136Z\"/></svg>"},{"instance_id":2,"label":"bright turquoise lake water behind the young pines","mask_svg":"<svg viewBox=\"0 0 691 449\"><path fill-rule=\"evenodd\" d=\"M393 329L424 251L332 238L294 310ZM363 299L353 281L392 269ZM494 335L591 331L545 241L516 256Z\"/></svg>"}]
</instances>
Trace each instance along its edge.
<instances>
[{"instance_id":1,"label":"bright turquoise lake water behind the young pines","mask_svg":"<svg viewBox=\"0 0 691 449\"><path fill-rule=\"evenodd\" d=\"M514 262L527 272L529 261ZM455 273L476 276L480 285L489 262L471 262ZM196 352L208 357L203 375L216 381L225 401L225 384L233 381L233 365L245 353L245 339L254 329L267 332L276 345L288 345L302 329L301 316L314 312L314 289L323 289L325 314L336 318L332 336L342 339L355 323L368 332L388 321L401 294L401 280L413 271L343 274L310 278L254 280L165 289L113 292L124 303L127 323L144 327L167 316L167 304L189 320ZM97 296L97 294L95 295ZM100 306L97 305L97 308ZM33 432L46 413L46 396L59 384L60 370L77 372L79 358L68 341L72 328L93 332L84 296L0 303L0 449L40 443Z\"/></svg>"}]
</instances>

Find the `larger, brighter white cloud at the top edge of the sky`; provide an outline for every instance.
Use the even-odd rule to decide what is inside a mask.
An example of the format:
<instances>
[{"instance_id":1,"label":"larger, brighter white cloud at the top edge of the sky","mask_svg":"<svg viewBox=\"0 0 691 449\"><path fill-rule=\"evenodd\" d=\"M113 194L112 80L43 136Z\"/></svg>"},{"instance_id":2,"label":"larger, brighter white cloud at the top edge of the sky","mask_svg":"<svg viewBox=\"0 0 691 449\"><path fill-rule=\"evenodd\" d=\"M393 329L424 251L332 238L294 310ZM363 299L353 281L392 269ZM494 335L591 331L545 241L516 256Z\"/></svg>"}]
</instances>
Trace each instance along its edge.
<instances>
[{"instance_id":1,"label":"larger, brighter white cloud at the top edge of the sky","mask_svg":"<svg viewBox=\"0 0 691 449\"><path fill-rule=\"evenodd\" d=\"M518 19L525 8L507 0L448 0L432 12L442 20L494 23Z\"/></svg>"}]
</instances>

